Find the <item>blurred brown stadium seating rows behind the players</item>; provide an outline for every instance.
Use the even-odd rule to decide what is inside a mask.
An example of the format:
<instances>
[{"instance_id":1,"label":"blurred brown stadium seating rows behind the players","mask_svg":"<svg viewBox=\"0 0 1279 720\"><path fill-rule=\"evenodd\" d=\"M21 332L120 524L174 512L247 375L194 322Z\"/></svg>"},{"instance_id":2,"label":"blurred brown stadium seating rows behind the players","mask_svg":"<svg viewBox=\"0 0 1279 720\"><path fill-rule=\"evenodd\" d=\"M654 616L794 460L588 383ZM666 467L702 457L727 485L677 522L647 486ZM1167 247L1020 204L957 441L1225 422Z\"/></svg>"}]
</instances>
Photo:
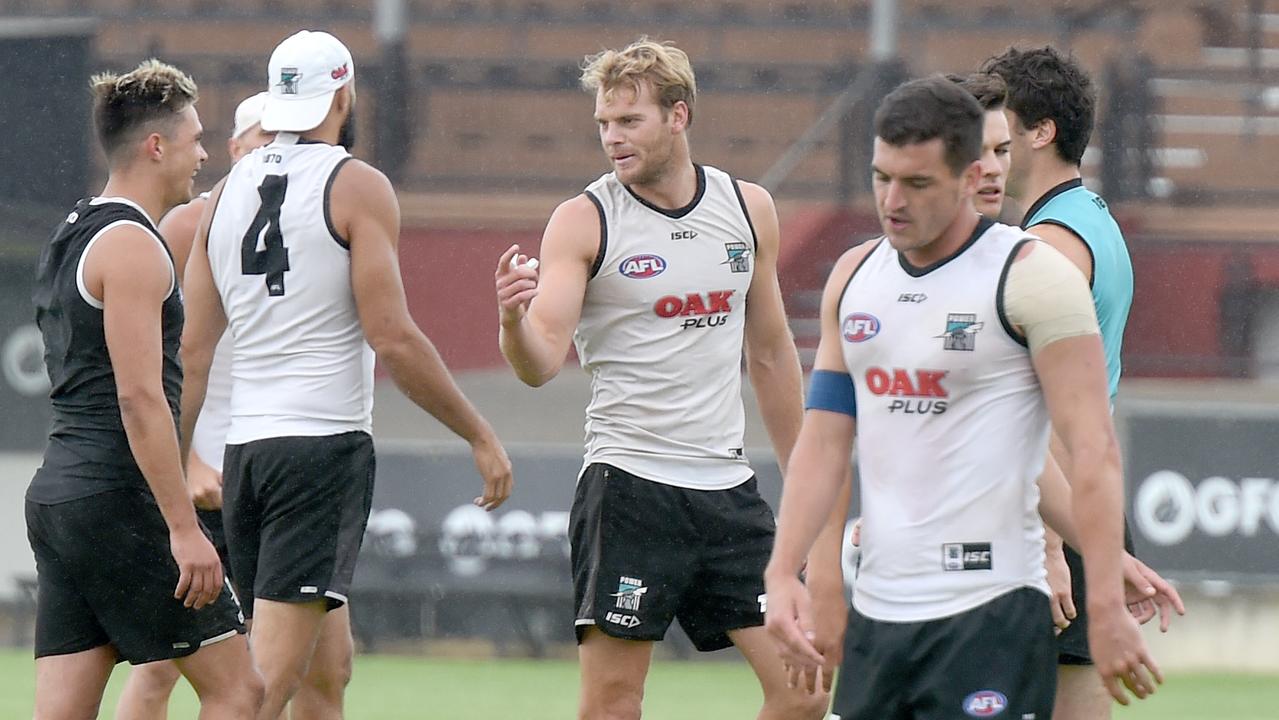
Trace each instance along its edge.
<instances>
[{"instance_id":1,"label":"blurred brown stadium seating rows behind the players","mask_svg":"<svg viewBox=\"0 0 1279 720\"><path fill-rule=\"evenodd\" d=\"M536 197L533 205L542 207L546 198L565 197L606 169L590 120L591 100L576 87L582 58L602 47L647 33L687 49L700 82L691 133L696 157L744 179L762 176L868 64L870 0L408 0L412 120L404 148L373 132L382 61L371 23L375 5L0 0L0 12L95 14L102 20L97 47L104 64L124 68L157 55L191 69L214 138L229 132L234 104L260 87L271 46L298 27L331 29L368 78L361 86L359 153L407 153L398 183L405 197L423 192L449 200L405 206L444 207L458 223L486 221L494 198L509 193ZM1279 152L1279 15L1261 17L1261 49L1252 55L1247 0L898 5L899 52L912 73L975 68L1013 43L1069 47L1099 81L1099 128L1131 129L1141 121L1152 128L1150 183L1123 176L1123 194L1187 207L1279 198L1279 175L1267 162ZM1132 92L1113 95L1111 73L1137 63L1150 68L1150 116L1108 123ZM863 128L857 132L865 134ZM1101 175L1104 145L1099 129L1083 166L1090 183ZM774 188L783 207L838 198L844 165L865 162L847 148L858 150L835 129L819 138ZM211 146L206 178L226 170L217 150ZM1123 151L1133 152L1132 146ZM862 173L853 169L852 175ZM1147 205L1132 206L1129 217L1152 212ZM517 223L522 212L504 221ZM528 223L538 224L536 214ZM831 233L845 225L817 217L803 226ZM1233 233L1230 228L1220 231ZM842 242L822 244L826 249L807 262L829 262ZM811 288L794 289L796 307L806 290ZM803 317L798 324L811 325Z\"/></svg>"}]
</instances>

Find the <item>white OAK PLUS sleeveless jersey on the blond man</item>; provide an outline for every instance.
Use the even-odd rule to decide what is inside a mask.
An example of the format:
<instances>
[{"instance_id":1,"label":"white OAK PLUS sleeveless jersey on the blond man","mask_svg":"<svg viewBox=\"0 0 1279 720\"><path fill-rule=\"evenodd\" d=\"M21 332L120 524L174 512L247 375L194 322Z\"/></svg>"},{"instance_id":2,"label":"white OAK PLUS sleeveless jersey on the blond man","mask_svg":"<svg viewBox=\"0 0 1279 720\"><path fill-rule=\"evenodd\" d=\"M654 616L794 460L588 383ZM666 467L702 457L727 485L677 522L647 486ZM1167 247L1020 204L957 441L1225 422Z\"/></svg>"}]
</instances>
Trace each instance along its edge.
<instances>
[{"instance_id":1,"label":"white OAK PLUS sleeveless jersey on the blond man","mask_svg":"<svg viewBox=\"0 0 1279 720\"><path fill-rule=\"evenodd\" d=\"M744 482L741 368L756 240L737 183L697 166L697 194L679 210L650 205L613 173L586 194L602 228L574 335L591 375L586 464L698 490Z\"/></svg>"}]
</instances>

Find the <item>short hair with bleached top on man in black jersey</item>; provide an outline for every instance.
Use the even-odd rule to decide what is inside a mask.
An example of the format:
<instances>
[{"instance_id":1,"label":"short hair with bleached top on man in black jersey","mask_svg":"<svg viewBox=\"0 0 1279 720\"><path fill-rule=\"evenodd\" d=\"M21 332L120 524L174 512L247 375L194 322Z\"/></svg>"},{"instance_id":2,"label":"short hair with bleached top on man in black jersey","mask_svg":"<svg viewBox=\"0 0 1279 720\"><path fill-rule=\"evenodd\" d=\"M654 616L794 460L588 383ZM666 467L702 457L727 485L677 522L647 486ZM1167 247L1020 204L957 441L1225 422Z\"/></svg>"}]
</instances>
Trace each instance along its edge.
<instances>
[{"instance_id":1,"label":"short hair with bleached top on man in black jersey","mask_svg":"<svg viewBox=\"0 0 1279 720\"><path fill-rule=\"evenodd\" d=\"M137 139L138 130L166 130L168 123L200 98L194 81L155 59L145 60L123 75L93 75L90 87L93 90L93 128L107 161Z\"/></svg>"}]
</instances>

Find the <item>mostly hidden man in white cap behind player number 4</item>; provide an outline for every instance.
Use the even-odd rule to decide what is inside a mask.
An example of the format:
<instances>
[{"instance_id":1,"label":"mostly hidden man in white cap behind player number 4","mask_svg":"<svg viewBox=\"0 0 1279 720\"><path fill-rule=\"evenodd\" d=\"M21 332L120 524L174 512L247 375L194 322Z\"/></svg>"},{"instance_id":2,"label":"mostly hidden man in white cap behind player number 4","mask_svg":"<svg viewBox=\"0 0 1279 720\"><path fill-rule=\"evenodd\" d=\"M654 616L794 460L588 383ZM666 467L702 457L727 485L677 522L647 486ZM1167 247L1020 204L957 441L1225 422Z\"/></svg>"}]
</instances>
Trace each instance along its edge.
<instances>
[{"instance_id":1,"label":"mostly hidden man in white cap behind player number 4","mask_svg":"<svg viewBox=\"0 0 1279 720\"><path fill-rule=\"evenodd\" d=\"M235 127L226 141L226 151L231 162L238 162L253 150L271 142L275 136L262 130L262 107L266 106L266 93L260 92L240 101L235 107ZM160 235L169 243L173 252L174 269L178 278L183 275L191 243L196 237L200 216L208 203L208 193L201 193L187 205L169 211L160 220ZM229 405L231 395L231 357L230 335L224 334L214 353L214 363L208 372L208 391L205 405L196 421L194 437L187 454L187 490L196 504L200 522L208 529L214 547L226 563L226 536L223 533L223 449L226 440L226 427L230 423ZM228 573L228 577L230 574ZM178 683L180 673L171 660L147 662L129 671L124 683L120 702L115 708L118 717L129 720L164 720L168 716L169 696Z\"/></svg>"}]
</instances>

